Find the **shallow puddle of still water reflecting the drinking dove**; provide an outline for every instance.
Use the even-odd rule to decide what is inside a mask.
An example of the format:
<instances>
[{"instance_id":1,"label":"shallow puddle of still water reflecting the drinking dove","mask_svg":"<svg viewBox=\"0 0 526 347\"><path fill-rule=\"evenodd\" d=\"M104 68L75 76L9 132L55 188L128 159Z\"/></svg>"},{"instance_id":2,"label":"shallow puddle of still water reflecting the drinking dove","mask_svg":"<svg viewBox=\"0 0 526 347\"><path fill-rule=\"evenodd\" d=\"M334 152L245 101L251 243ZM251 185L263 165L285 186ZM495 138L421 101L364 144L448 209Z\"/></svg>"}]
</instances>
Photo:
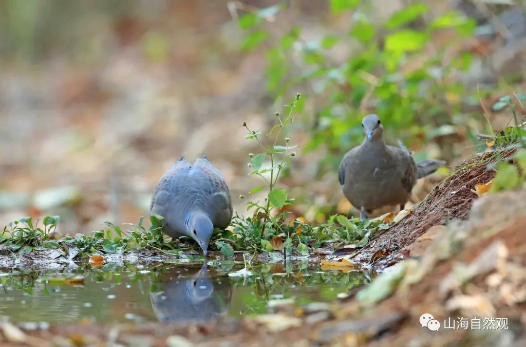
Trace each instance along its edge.
<instances>
[{"instance_id":1,"label":"shallow puddle of still water reflecting the drinking dove","mask_svg":"<svg viewBox=\"0 0 526 347\"><path fill-rule=\"evenodd\" d=\"M369 282L359 271L309 263L154 262L0 273L0 320L47 323L207 321L328 302ZM230 274L230 275L229 275Z\"/></svg>"}]
</instances>

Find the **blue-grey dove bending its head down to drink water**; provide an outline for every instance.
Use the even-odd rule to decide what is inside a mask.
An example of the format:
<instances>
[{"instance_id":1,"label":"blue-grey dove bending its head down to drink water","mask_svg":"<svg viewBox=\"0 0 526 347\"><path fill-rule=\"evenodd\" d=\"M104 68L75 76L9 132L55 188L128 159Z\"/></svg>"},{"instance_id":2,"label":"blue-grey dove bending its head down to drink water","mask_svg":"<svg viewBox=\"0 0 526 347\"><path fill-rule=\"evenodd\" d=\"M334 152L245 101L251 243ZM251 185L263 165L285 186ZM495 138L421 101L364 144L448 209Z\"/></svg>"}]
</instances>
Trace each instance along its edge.
<instances>
[{"instance_id":1,"label":"blue-grey dove bending its head down to drink water","mask_svg":"<svg viewBox=\"0 0 526 347\"><path fill-rule=\"evenodd\" d=\"M164 217L163 231L168 236L196 240L206 257L214 228L225 228L232 219L230 192L204 155L194 165L183 157L157 183L150 213Z\"/></svg>"}]
</instances>

